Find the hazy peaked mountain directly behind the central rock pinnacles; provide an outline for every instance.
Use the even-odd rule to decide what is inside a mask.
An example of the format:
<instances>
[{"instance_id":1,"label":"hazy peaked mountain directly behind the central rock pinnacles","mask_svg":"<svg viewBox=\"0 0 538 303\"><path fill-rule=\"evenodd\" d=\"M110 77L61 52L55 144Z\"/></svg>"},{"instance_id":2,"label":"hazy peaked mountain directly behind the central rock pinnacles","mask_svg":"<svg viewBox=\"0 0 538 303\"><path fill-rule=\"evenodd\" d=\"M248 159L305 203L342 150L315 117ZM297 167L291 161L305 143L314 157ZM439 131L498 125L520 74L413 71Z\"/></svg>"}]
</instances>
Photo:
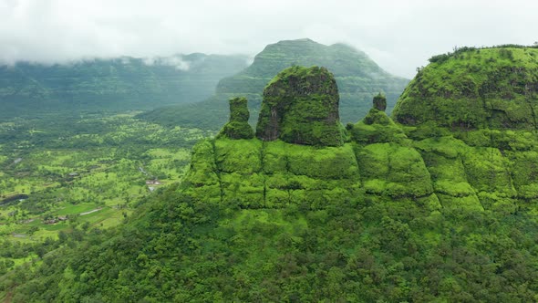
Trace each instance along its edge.
<instances>
[{"instance_id":1,"label":"hazy peaked mountain directly behind the central rock pinnacles","mask_svg":"<svg viewBox=\"0 0 538 303\"><path fill-rule=\"evenodd\" d=\"M284 68L321 66L335 74L340 94L340 118L356 122L364 117L370 100L382 91L392 110L409 80L388 74L367 55L344 44L325 46L310 39L280 41L268 45L254 57L253 64L234 76L222 78L216 94L200 103L152 110L140 118L166 125L205 127L218 130L228 117L226 101L233 97L249 100L251 122L258 118L265 85Z\"/></svg>"}]
</instances>

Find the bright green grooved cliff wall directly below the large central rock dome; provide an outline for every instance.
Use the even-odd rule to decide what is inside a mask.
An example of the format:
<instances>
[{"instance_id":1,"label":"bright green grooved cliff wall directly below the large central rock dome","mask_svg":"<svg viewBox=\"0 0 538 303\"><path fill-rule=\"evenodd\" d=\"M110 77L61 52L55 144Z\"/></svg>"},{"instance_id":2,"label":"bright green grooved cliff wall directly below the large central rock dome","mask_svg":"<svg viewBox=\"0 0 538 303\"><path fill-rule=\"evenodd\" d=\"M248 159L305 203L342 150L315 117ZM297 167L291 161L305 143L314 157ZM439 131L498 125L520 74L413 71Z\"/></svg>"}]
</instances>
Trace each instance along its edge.
<instances>
[{"instance_id":1,"label":"bright green grooved cliff wall directly below the large central rock dome","mask_svg":"<svg viewBox=\"0 0 538 303\"><path fill-rule=\"evenodd\" d=\"M197 144L184 184L199 201L319 209L332 199L357 199L361 179L351 144L314 147L218 138Z\"/></svg>"}]
</instances>

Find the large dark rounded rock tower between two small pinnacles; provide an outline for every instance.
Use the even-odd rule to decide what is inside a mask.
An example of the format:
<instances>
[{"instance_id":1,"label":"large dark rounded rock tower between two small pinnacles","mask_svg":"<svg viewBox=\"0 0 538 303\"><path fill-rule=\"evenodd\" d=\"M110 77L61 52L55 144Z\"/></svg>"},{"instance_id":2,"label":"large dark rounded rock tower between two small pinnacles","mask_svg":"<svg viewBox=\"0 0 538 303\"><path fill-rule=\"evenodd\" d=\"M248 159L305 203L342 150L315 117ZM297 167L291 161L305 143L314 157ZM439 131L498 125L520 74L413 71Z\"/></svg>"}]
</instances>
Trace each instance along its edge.
<instances>
[{"instance_id":1,"label":"large dark rounded rock tower between two small pinnacles","mask_svg":"<svg viewBox=\"0 0 538 303\"><path fill-rule=\"evenodd\" d=\"M342 144L338 89L326 68L286 68L264 89L256 136L316 146Z\"/></svg>"}]
</instances>

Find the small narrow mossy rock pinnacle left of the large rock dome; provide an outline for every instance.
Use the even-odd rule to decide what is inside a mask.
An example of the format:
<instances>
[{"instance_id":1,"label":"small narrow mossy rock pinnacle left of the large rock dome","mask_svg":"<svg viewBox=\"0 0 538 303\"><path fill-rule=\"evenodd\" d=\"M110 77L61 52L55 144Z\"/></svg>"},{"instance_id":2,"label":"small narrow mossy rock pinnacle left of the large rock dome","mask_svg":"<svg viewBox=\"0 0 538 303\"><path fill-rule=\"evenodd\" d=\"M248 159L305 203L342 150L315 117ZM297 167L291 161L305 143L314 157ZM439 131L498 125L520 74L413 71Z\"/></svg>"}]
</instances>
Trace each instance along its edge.
<instances>
[{"instance_id":1,"label":"small narrow mossy rock pinnacle left of the large rock dome","mask_svg":"<svg viewBox=\"0 0 538 303\"><path fill-rule=\"evenodd\" d=\"M230 139L251 139L254 137L253 128L248 124L250 113L246 98L230 99L230 121L224 125L219 136Z\"/></svg>"}]
</instances>

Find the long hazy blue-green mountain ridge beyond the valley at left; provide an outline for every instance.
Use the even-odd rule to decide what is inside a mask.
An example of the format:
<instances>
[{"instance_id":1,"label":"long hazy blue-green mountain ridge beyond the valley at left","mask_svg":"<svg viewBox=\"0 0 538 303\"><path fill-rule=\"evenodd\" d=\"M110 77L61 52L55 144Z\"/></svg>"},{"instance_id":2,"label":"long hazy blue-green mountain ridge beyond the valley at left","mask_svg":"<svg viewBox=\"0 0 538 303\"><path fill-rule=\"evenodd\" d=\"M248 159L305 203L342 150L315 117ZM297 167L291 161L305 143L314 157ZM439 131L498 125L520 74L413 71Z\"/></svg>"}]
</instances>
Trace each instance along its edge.
<instances>
[{"instance_id":1,"label":"long hazy blue-green mountain ridge beyond the valley at left","mask_svg":"<svg viewBox=\"0 0 538 303\"><path fill-rule=\"evenodd\" d=\"M211 96L247 65L243 56L119 57L0 67L1 116L57 110L150 110Z\"/></svg>"}]
</instances>

